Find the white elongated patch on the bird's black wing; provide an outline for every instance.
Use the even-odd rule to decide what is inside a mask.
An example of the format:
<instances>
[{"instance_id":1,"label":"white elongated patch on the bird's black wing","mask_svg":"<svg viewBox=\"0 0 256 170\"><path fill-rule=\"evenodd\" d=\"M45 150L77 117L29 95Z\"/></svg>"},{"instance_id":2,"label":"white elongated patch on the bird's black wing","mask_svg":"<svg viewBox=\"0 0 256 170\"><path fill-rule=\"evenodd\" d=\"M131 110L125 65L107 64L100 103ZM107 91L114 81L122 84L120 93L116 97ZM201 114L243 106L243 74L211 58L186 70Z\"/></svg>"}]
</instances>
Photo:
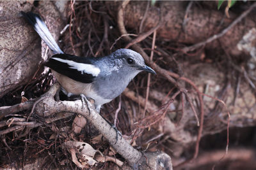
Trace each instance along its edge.
<instances>
[{"instance_id":1,"label":"white elongated patch on the bird's black wing","mask_svg":"<svg viewBox=\"0 0 256 170\"><path fill-rule=\"evenodd\" d=\"M71 69L76 69L77 71L81 71L82 74L87 73L87 74L92 74L93 76L98 76L100 73L99 67L93 66L92 64L84 64L84 63L74 62L72 60L59 59L56 57L52 57L52 59L67 63Z\"/></svg>"}]
</instances>

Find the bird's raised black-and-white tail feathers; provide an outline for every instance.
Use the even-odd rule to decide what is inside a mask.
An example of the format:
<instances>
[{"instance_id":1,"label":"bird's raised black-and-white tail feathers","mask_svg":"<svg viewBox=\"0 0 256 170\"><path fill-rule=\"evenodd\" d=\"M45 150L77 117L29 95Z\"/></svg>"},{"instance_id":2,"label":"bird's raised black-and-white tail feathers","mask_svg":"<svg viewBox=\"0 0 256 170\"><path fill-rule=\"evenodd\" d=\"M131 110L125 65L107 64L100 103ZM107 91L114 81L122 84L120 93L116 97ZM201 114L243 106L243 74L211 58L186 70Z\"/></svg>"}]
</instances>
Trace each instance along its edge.
<instances>
[{"instance_id":1,"label":"bird's raised black-and-white tail feathers","mask_svg":"<svg viewBox=\"0 0 256 170\"><path fill-rule=\"evenodd\" d=\"M63 53L39 15L32 12L25 13L24 11L21 11L20 13L26 20L28 20L29 24L34 27L35 31L45 41L53 53Z\"/></svg>"}]
</instances>

